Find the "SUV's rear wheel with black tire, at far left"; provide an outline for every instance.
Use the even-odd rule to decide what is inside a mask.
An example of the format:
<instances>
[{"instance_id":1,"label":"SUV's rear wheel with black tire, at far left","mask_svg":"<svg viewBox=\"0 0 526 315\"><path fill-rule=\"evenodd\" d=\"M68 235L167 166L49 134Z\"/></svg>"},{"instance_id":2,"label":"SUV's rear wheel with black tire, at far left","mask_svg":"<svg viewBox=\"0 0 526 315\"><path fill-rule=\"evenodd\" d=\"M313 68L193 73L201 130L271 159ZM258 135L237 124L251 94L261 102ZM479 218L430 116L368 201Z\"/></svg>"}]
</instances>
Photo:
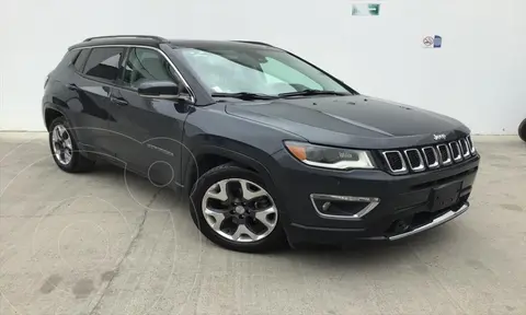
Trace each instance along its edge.
<instances>
[{"instance_id":1,"label":"SUV's rear wheel with black tire, at far left","mask_svg":"<svg viewBox=\"0 0 526 315\"><path fill-rule=\"evenodd\" d=\"M53 160L60 170L67 173L91 171L95 162L80 154L77 141L71 137L72 132L70 129L69 121L64 116L55 118L49 126L49 149L52 150ZM57 141L54 139L57 136L61 140L62 144L60 145L64 148L64 152L70 152L70 159L67 159L67 153L64 153L64 155L59 153L57 156L57 152L60 151L57 149L60 145L56 144Z\"/></svg>"}]
</instances>

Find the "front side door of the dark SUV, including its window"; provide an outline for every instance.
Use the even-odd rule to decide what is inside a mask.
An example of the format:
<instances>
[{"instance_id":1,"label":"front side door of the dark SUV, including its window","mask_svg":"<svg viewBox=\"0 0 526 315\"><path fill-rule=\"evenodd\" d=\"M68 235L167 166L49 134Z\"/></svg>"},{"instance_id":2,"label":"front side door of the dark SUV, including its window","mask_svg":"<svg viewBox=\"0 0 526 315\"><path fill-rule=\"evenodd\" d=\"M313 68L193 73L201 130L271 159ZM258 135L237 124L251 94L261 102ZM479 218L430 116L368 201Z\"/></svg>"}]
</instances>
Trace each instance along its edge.
<instances>
[{"instance_id":1,"label":"front side door of the dark SUV, including its window","mask_svg":"<svg viewBox=\"0 0 526 315\"><path fill-rule=\"evenodd\" d=\"M111 96L118 114L110 125L126 136L113 145L117 158L155 185L179 186L183 125L190 107L184 101L147 98L137 93L144 82L179 84L179 77L165 56L148 47L130 47L122 69L119 86Z\"/></svg>"}]
</instances>

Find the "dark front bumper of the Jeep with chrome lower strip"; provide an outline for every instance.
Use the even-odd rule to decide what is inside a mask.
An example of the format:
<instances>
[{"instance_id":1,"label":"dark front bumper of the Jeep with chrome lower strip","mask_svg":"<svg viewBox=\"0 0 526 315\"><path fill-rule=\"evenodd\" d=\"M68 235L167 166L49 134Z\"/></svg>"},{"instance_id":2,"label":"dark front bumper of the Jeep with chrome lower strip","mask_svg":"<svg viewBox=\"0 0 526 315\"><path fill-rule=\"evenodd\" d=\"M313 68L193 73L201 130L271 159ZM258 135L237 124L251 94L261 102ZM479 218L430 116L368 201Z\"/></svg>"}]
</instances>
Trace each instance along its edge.
<instances>
[{"instance_id":1,"label":"dark front bumper of the Jeep with chrome lower strip","mask_svg":"<svg viewBox=\"0 0 526 315\"><path fill-rule=\"evenodd\" d=\"M276 153L279 172L272 172L282 224L290 243L346 243L356 238L396 241L438 226L466 212L480 162L462 163L419 174L393 176L378 170L339 172L306 166L288 152ZM456 183L455 203L435 211L433 194ZM312 194L379 199L359 218L320 215ZM351 219L351 220L350 220ZM402 224L403 226L400 226Z\"/></svg>"}]
</instances>

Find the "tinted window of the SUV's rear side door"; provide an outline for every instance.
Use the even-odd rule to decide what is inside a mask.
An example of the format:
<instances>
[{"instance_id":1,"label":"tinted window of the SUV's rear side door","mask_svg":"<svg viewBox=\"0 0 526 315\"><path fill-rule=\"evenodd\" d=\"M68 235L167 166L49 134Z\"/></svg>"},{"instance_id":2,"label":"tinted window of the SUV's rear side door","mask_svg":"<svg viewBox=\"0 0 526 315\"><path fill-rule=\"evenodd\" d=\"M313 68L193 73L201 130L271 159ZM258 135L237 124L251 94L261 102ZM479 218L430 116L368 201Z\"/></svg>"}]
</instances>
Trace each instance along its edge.
<instances>
[{"instance_id":1,"label":"tinted window of the SUV's rear side door","mask_svg":"<svg viewBox=\"0 0 526 315\"><path fill-rule=\"evenodd\" d=\"M121 47L93 48L85 62L84 74L115 82L118 75L118 61L124 52Z\"/></svg>"}]
</instances>

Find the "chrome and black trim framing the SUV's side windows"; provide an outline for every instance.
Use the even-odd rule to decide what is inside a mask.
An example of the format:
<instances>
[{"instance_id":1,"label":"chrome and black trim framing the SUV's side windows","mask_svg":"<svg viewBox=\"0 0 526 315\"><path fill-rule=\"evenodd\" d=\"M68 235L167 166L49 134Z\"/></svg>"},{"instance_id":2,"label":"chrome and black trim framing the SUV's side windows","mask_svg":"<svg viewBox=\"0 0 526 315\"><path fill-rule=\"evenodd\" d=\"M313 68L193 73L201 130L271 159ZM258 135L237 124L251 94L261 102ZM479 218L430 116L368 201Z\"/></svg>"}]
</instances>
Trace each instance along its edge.
<instances>
[{"instance_id":1,"label":"chrome and black trim framing the SUV's side windows","mask_svg":"<svg viewBox=\"0 0 526 315\"><path fill-rule=\"evenodd\" d=\"M77 47L77 48L73 48L71 50L79 50L79 49L91 49L90 51L90 56L91 56L91 52L93 51L94 48L110 48L110 47L124 47L124 51L123 51L123 56L121 58L124 58L125 55L127 56L128 51L129 51L129 48L146 48L146 49L151 49L151 50L155 50L157 52L159 52L167 61L168 63L173 68L173 70L175 70L175 73L178 74L180 81L183 83L184 88L186 89L186 91L188 92L188 95L190 95L190 102L192 104L195 104L195 93L194 91L192 91L192 89L190 88L190 84L188 82L186 82L186 80L184 79L183 74L181 74L181 71L179 71L178 67L175 67L175 65L173 63L173 61L168 57L168 55L162 51L161 49L157 48L157 47L151 47L151 46L144 46L144 45L117 45L117 44L107 44L107 45L93 45L93 46L82 46L82 47ZM88 56L88 58L90 58L90 56ZM88 59L87 59L88 60ZM123 59L119 60L118 65L119 65L119 68L122 68L122 62L123 62ZM85 67L85 65L84 65ZM88 78L90 80L94 80L94 81L98 81L98 82L101 82L96 79L93 79L91 75L85 75L84 73L81 73L82 77L84 78ZM130 91L135 91L137 92L137 90L133 90L133 89L129 89L129 86L124 86L124 84L122 84L122 81L119 80L121 77L123 75L123 72L121 71L119 75L117 75L117 80L115 82L110 82L110 81L103 81L103 83L106 83L106 84L111 84L111 85L114 85L114 86L117 86L119 89L126 89L126 90L130 90Z\"/></svg>"}]
</instances>

